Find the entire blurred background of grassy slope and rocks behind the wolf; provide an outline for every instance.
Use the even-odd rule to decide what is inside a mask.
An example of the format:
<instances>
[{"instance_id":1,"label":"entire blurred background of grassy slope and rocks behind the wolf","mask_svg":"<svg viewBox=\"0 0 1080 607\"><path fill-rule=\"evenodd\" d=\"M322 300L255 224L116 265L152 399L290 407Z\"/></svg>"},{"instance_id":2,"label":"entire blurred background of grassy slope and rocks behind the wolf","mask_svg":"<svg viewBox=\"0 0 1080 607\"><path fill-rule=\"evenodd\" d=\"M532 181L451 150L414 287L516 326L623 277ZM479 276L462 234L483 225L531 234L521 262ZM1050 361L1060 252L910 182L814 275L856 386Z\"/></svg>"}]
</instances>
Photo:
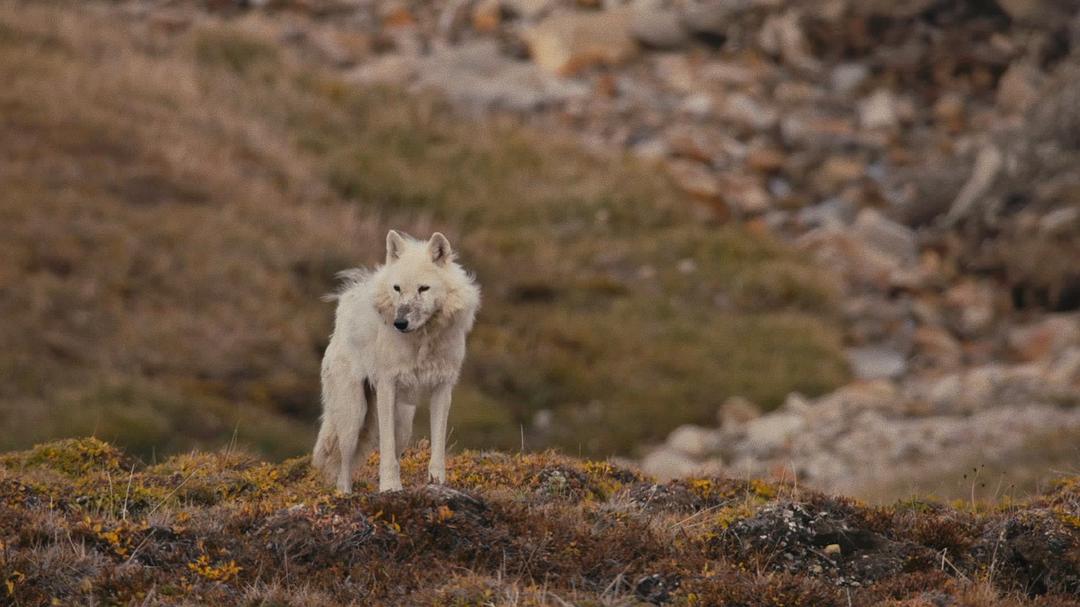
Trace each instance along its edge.
<instances>
[{"instance_id":1,"label":"entire blurred background of grassy slope and rocks behind the wolf","mask_svg":"<svg viewBox=\"0 0 1080 607\"><path fill-rule=\"evenodd\" d=\"M1080 471L1075 1L0 0L0 448L305 454L391 227L484 288L457 449Z\"/></svg>"}]
</instances>

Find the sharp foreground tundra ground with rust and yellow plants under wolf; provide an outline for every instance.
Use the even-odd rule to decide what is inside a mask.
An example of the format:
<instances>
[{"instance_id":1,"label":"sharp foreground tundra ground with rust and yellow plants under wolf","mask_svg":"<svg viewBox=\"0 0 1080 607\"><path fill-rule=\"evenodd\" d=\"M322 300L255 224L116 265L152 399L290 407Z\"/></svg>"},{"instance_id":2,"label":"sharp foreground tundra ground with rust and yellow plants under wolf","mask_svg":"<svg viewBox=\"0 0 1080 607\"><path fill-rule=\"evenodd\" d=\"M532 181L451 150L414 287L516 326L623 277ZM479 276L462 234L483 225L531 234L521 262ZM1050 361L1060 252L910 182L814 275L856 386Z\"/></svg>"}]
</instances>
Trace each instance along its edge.
<instances>
[{"instance_id":1,"label":"sharp foreground tundra ground with rust and yellow plants under wolf","mask_svg":"<svg viewBox=\"0 0 1080 607\"><path fill-rule=\"evenodd\" d=\"M332 494L307 458L151 467L96 440L0 456L6 605L1066 606L1080 480L1017 503L872 508L728 478L658 485L465 451L448 487Z\"/></svg>"}]
</instances>

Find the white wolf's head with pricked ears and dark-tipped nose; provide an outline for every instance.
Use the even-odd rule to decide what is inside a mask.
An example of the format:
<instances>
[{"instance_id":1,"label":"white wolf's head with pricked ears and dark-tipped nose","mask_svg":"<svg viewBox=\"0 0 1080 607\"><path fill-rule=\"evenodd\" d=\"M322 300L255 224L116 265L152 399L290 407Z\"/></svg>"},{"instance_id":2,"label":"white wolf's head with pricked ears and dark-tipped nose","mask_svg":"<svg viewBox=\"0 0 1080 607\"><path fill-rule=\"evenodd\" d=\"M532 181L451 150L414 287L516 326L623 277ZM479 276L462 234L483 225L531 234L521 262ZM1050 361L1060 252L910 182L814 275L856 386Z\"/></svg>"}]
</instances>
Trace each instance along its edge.
<instances>
[{"instance_id":1,"label":"white wolf's head with pricked ears and dark-tipped nose","mask_svg":"<svg viewBox=\"0 0 1080 607\"><path fill-rule=\"evenodd\" d=\"M450 242L440 232L422 242L390 230L387 265L375 297L379 314L402 333L411 333L445 315L460 273L451 267L453 261Z\"/></svg>"}]
</instances>

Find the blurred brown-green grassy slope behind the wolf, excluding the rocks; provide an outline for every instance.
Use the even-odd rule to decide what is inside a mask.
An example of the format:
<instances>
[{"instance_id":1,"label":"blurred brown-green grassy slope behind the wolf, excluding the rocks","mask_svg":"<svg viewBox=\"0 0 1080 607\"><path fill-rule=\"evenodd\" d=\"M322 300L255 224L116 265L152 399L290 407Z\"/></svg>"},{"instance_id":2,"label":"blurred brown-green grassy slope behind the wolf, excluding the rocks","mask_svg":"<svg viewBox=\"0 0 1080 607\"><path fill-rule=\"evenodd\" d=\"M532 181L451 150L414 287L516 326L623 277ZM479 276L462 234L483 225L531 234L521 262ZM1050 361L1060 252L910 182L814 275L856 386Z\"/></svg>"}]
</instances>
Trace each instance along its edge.
<instances>
[{"instance_id":1,"label":"blurred brown-green grassy slope behind the wolf, excluding the rocks","mask_svg":"<svg viewBox=\"0 0 1080 607\"><path fill-rule=\"evenodd\" d=\"M388 227L445 231L485 288L459 447L629 453L728 395L843 380L828 278L768 238L700 225L649 167L356 90L280 39L0 2L0 446L302 453L319 297Z\"/></svg>"}]
</instances>

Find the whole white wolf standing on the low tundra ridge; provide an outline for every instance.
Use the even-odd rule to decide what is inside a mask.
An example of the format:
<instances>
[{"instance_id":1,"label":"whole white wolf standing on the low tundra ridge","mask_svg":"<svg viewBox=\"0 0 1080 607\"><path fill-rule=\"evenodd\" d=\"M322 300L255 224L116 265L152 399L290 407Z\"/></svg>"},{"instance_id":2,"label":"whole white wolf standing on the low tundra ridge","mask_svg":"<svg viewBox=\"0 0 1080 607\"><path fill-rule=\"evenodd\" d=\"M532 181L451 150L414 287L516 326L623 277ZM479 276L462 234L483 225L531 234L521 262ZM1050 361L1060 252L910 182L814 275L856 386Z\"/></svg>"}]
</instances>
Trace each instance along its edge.
<instances>
[{"instance_id":1,"label":"whole white wolf standing on the low tundra ridge","mask_svg":"<svg viewBox=\"0 0 1080 607\"><path fill-rule=\"evenodd\" d=\"M422 242L390 230L386 265L345 272L348 282L332 296L337 318L323 356L322 428L312 463L336 475L341 491L352 490L353 468L376 436L379 490L402 488L397 457L424 396L431 399L428 472L432 482L446 482L450 392L480 308L480 287L454 257L438 232Z\"/></svg>"}]
</instances>

